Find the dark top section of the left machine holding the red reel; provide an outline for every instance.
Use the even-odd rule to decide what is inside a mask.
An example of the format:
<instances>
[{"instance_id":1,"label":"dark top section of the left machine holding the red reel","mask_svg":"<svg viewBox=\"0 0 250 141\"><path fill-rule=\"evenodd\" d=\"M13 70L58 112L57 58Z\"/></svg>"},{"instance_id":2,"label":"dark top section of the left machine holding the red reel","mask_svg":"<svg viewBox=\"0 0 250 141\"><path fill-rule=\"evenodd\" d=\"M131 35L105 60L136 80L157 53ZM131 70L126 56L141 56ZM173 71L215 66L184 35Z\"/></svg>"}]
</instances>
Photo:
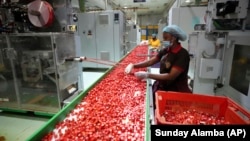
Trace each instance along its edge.
<instances>
[{"instance_id":1,"label":"dark top section of the left machine holding the red reel","mask_svg":"<svg viewBox=\"0 0 250 141\"><path fill-rule=\"evenodd\" d=\"M0 1L0 33L64 32L75 25L75 0Z\"/></svg>"}]
</instances>

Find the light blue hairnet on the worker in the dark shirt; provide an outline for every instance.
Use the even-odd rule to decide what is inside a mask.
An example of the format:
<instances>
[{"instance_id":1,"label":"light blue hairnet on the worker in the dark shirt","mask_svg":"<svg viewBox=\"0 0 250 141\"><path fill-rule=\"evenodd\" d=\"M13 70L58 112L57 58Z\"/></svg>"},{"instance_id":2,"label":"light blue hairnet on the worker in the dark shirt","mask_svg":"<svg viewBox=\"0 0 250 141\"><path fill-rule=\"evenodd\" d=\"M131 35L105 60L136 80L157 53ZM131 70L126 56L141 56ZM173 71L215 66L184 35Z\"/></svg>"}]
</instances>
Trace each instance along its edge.
<instances>
[{"instance_id":1,"label":"light blue hairnet on the worker in the dark shirt","mask_svg":"<svg viewBox=\"0 0 250 141\"><path fill-rule=\"evenodd\" d=\"M177 37L181 41L185 41L187 39L186 33L177 25L168 25L165 26L162 32L167 32L175 37Z\"/></svg>"}]
</instances>

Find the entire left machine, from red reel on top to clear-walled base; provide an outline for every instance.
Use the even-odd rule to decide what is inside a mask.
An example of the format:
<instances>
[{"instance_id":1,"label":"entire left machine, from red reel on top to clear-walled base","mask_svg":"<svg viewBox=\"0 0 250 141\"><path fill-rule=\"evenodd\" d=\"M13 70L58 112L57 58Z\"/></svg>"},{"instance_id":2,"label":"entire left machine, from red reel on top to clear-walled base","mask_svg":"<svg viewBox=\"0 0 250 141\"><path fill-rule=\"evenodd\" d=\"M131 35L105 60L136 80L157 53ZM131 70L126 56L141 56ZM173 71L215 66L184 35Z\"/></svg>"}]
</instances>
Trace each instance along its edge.
<instances>
[{"instance_id":1,"label":"entire left machine, from red reel on top to clear-walled base","mask_svg":"<svg viewBox=\"0 0 250 141\"><path fill-rule=\"evenodd\" d=\"M71 3L0 2L0 109L57 113L83 89Z\"/></svg>"}]
</instances>

